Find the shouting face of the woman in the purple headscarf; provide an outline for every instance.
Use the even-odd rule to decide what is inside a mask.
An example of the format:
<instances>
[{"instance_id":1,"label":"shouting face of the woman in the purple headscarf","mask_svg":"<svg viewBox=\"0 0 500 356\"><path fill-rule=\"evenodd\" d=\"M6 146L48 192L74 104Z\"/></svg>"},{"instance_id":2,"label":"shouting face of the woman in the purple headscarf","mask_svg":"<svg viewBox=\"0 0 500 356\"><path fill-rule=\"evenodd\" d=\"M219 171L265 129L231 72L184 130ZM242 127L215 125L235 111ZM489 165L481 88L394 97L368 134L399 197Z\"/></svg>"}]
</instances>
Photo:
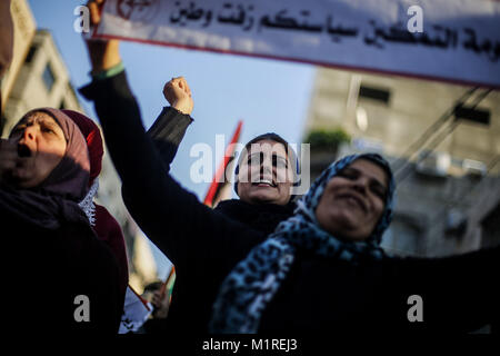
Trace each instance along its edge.
<instances>
[{"instance_id":1,"label":"shouting face of the woman in the purple headscarf","mask_svg":"<svg viewBox=\"0 0 500 356\"><path fill-rule=\"evenodd\" d=\"M10 138L18 145L18 160L11 178L20 188L40 185L66 152L67 142L61 127L44 112L33 112L23 118L12 129Z\"/></svg>"}]
</instances>

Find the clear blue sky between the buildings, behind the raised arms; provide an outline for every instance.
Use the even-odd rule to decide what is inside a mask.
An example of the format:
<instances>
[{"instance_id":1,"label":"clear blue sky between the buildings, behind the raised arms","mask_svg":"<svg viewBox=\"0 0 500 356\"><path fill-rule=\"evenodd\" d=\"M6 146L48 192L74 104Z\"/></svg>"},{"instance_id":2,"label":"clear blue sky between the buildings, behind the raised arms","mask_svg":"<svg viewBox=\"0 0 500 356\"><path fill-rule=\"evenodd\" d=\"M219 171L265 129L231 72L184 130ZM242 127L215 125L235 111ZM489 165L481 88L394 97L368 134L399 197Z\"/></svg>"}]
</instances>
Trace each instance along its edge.
<instances>
[{"instance_id":1,"label":"clear blue sky between the buildings, behind the raised arms","mask_svg":"<svg viewBox=\"0 0 500 356\"><path fill-rule=\"evenodd\" d=\"M73 30L73 10L81 0L29 0L38 28L51 30L76 88L89 81L90 62L80 33ZM167 103L162 89L172 77L184 76L194 99L194 122L188 129L172 166L182 185L204 197L209 184L189 177L192 145L206 142L214 150L216 135L229 140L238 119L243 120L241 141L276 131L300 142L311 96L314 67L284 61L208 53L161 46L121 43L121 57L132 90L149 128ZM93 108L81 102L96 118ZM213 169L221 157L216 157Z\"/></svg>"}]
</instances>

